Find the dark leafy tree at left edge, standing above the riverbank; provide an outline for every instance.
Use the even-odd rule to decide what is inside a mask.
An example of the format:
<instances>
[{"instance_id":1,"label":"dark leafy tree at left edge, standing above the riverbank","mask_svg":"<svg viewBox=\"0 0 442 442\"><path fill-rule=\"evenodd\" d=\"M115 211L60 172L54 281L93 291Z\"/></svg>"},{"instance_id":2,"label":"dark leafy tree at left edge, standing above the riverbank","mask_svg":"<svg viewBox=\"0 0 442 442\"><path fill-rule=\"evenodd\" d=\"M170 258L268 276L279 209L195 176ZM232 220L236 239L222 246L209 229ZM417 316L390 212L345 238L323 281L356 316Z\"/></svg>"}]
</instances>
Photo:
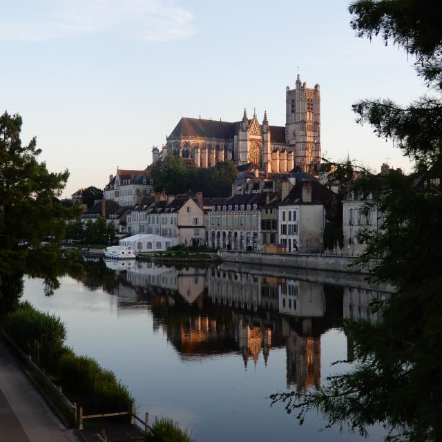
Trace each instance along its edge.
<instances>
[{"instance_id":1,"label":"dark leafy tree at left edge, standing above the riverbank","mask_svg":"<svg viewBox=\"0 0 442 442\"><path fill-rule=\"evenodd\" d=\"M57 267L66 219L78 215L57 199L68 171L50 173L38 162L37 140L23 145L21 124L19 115L0 117L0 309L15 305L27 267ZM44 238L49 241L43 245Z\"/></svg>"}]
</instances>

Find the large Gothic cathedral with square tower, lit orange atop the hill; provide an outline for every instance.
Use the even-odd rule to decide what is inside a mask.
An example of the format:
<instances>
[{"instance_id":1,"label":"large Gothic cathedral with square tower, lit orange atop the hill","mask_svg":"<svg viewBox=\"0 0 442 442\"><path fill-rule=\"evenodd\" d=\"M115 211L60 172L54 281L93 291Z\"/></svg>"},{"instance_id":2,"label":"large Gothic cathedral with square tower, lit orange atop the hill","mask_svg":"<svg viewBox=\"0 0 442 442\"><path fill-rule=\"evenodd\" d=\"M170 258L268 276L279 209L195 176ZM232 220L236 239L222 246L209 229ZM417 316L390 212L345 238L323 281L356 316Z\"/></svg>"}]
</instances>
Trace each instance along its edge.
<instances>
[{"instance_id":1,"label":"large Gothic cathedral with square tower, lit orange atop the hill","mask_svg":"<svg viewBox=\"0 0 442 442\"><path fill-rule=\"evenodd\" d=\"M319 85L307 88L300 75L295 88L286 89L285 126L271 126L267 113L262 124L256 113L239 122L182 117L162 150L153 148L153 162L165 155L177 155L198 167L220 161L236 166L254 163L265 173L317 171L320 165Z\"/></svg>"}]
</instances>

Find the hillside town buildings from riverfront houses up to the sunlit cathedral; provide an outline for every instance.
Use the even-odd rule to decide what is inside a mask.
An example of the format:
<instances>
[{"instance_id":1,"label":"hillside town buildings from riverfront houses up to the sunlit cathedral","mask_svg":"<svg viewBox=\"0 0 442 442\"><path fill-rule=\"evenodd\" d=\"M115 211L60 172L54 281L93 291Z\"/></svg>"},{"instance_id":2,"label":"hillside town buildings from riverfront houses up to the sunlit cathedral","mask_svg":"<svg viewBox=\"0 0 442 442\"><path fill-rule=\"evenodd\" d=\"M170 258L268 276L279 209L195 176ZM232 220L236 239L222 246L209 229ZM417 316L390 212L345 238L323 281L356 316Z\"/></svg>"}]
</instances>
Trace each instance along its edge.
<instances>
[{"instance_id":1,"label":"hillside town buildings from riverfront houses up to the sunlit cathedral","mask_svg":"<svg viewBox=\"0 0 442 442\"><path fill-rule=\"evenodd\" d=\"M359 256L366 240L358 233L377 231L382 214L366 208L372 194L352 188L358 171L347 177L350 185L342 186L334 174L336 166L321 164L319 85L307 88L298 74L295 88L287 86L285 101L285 126L270 126L267 113L262 123L255 112L249 119L245 109L234 123L183 117L161 150L153 147L153 162L146 169L117 168L109 175L103 199L85 208L82 220L106 218L120 241L133 237L124 243L138 252L180 244ZM153 167L168 157L202 169L233 164L231 194L209 198L204 189L155 191ZM381 175L390 170L383 163ZM72 195L73 202L81 202L81 191ZM342 233L327 240L331 225Z\"/></svg>"}]
</instances>

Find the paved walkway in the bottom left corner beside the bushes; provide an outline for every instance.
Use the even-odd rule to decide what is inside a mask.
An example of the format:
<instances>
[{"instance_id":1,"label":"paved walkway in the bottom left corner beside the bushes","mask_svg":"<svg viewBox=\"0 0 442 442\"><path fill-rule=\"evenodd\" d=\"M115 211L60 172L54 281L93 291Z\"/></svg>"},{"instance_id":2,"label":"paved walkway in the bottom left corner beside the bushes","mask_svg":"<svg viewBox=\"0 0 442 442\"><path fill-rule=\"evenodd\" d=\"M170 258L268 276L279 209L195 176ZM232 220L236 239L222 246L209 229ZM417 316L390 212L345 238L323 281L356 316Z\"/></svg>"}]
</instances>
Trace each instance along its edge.
<instances>
[{"instance_id":1,"label":"paved walkway in the bottom left corner beside the bushes","mask_svg":"<svg viewBox=\"0 0 442 442\"><path fill-rule=\"evenodd\" d=\"M0 442L78 442L0 343Z\"/></svg>"}]
</instances>

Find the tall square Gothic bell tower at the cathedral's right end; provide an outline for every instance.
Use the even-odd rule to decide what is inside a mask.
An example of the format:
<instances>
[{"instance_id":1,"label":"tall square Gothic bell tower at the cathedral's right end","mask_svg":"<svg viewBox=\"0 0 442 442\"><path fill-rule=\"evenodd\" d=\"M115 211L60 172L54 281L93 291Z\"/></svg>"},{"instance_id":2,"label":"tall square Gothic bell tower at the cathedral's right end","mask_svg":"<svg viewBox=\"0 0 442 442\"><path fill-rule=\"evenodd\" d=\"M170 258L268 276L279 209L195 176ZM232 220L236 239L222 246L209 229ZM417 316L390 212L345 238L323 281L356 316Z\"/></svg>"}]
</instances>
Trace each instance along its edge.
<instances>
[{"instance_id":1,"label":"tall square Gothic bell tower at the cathedral's right end","mask_svg":"<svg viewBox=\"0 0 442 442\"><path fill-rule=\"evenodd\" d=\"M301 84L286 91L285 137L293 146L294 163L302 171L318 170L320 165L320 90Z\"/></svg>"}]
</instances>

